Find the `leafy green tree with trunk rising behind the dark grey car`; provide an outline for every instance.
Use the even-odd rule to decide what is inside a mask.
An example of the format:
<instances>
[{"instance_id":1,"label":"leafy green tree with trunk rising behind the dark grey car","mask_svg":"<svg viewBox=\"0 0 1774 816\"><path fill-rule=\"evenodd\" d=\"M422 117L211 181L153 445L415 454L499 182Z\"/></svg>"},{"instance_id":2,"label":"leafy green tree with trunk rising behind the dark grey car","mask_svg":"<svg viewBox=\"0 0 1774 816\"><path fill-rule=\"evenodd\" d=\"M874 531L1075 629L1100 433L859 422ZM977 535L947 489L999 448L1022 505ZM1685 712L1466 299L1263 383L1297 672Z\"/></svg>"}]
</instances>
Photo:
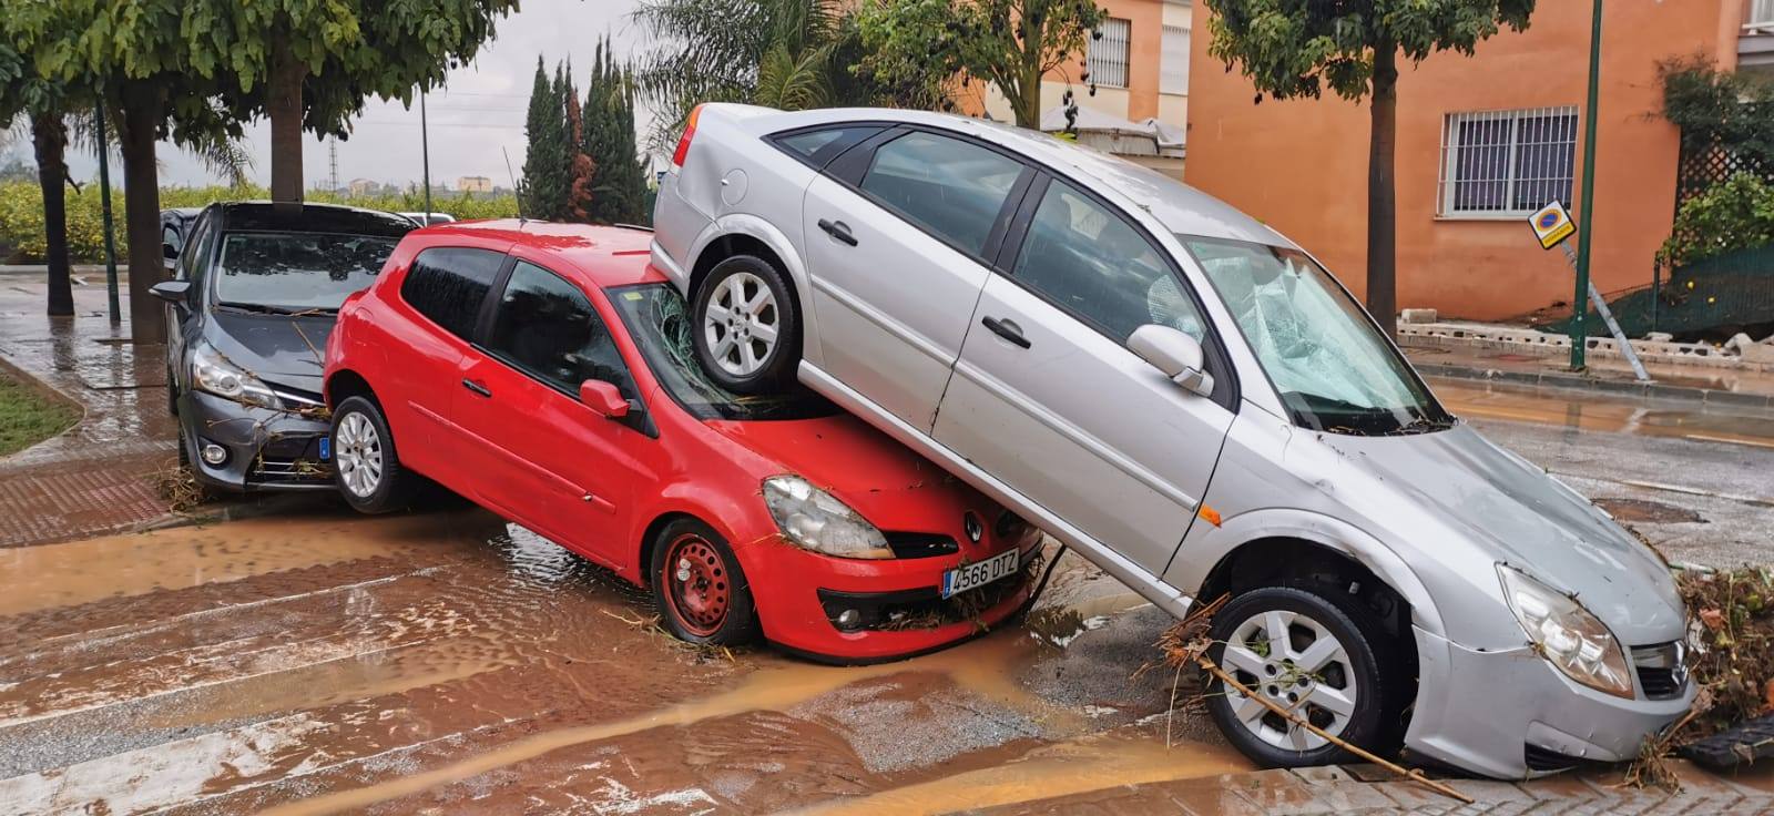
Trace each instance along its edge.
<instances>
[{"instance_id":1,"label":"leafy green tree with trunk rising behind the dark grey car","mask_svg":"<svg viewBox=\"0 0 1774 816\"><path fill-rule=\"evenodd\" d=\"M76 0L103 2L103 0ZM144 4L115 4L144 5ZM231 114L271 121L271 199L302 200L302 131L348 138L371 98L413 94L474 59L516 0L184 0L186 62Z\"/></svg>"}]
</instances>

